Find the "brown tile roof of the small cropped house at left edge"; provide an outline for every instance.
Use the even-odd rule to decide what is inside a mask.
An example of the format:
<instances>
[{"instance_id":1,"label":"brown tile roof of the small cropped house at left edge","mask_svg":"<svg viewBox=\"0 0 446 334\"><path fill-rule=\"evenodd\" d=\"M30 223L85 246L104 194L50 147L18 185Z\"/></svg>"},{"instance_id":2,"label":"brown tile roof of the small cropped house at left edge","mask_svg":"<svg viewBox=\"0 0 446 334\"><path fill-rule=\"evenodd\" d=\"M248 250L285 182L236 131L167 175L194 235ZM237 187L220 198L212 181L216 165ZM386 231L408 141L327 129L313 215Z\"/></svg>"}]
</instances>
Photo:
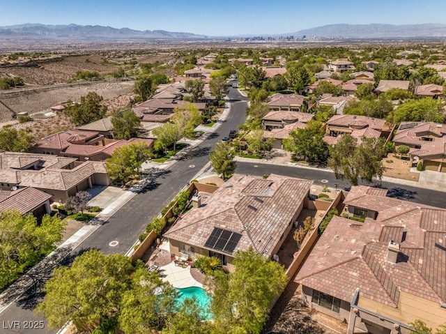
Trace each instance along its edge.
<instances>
[{"instance_id":1,"label":"brown tile roof of the small cropped house at left edge","mask_svg":"<svg viewBox=\"0 0 446 334\"><path fill-rule=\"evenodd\" d=\"M17 210L29 213L44 204L52 195L35 188L21 188L9 192L8 197L0 199L0 212Z\"/></svg>"}]
</instances>

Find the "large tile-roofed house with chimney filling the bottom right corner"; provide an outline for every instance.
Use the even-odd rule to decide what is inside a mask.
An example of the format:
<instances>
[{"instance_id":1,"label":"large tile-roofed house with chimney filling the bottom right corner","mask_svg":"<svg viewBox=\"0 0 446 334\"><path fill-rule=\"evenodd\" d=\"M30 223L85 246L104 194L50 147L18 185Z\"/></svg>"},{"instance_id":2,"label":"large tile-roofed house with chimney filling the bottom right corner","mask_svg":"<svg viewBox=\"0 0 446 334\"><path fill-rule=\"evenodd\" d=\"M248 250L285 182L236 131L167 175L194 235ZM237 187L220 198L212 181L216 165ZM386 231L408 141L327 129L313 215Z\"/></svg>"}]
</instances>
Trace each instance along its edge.
<instances>
[{"instance_id":1,"label":"large tile-roofed house with chimney filling the bottom right corner","mask_svg":"<svg viewBox=\"0 0 446 334\"><path fill-rule=\"evenodd\" d=\"M446 210L351 188L298 272L305 305L348 324L348 334L413 333L446 319ZM357 222L348 217L364 219Z\"/></svg>"}]
</instances>

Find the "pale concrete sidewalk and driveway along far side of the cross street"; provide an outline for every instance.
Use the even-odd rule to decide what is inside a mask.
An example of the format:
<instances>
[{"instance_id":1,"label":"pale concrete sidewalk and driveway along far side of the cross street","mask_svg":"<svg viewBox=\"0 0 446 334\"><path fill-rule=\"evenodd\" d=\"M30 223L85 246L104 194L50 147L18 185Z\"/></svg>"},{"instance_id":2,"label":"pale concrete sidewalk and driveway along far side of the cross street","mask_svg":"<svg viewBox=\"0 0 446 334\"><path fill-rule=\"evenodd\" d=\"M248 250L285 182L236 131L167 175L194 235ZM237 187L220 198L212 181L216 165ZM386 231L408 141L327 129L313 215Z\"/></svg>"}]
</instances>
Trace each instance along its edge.
<instances>
[{"instance_id":1,"label":"pale concrete sidewalk and driveway along far side of the cross street","mask_svg":"<svg viewBox=\"0 0 446 334\"><path fill-rule=\"evenodd\" d=\"M234 158L234 160L240 161L240 162L249 162L249 163L259 162L259 164L268 164L268 165L285 165L285 166L295 167L295 168L305 168L305 169L315 169L315 170L323 169L328 172L332 172L332 170L328 169L328 168L298 165L295 162L277 161L274 158L272 158L272 159L252 159L252 158L242 158L242 157L236 156ZM408 180L404 180L404 179L392 178L389 176L383 176L381 179L376 179L376 181L378 183L379 183L379 181L385 181L385 182L397 183L397 184L401 184L401 185L409 185L411 187L426 188L426 189L446 192L446 173L423 171L423 172L420 172L420 180L419 181L408 181Z\"/></svg>"}]
</instances>

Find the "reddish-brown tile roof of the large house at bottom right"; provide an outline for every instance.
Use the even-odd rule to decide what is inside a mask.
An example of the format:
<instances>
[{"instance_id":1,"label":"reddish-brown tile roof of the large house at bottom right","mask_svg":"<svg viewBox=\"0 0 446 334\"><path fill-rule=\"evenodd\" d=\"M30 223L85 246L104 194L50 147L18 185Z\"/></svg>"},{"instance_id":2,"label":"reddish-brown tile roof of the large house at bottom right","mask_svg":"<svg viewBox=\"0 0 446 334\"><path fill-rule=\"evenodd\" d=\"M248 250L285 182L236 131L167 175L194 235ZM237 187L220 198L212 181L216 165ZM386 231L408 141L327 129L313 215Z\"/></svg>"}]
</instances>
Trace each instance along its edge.
<instances>
[{"instance_id":1,"label":"reddish-brown tile roof of the large house at bottom right","mask_svg":"<svg viewBox=\"0 0 446 334\"><path fill-rule=\"evenodd\" d=\"M344 204L378 211L357 224L335 216L296 277L313 289L351 301L360 296L397 308L399 292L446 301L446 256L438 245L446 211L385 197L386 190L353 187ZM387 262L389 241L401 243L397 264Z\"/></svg>"}]
</instances>

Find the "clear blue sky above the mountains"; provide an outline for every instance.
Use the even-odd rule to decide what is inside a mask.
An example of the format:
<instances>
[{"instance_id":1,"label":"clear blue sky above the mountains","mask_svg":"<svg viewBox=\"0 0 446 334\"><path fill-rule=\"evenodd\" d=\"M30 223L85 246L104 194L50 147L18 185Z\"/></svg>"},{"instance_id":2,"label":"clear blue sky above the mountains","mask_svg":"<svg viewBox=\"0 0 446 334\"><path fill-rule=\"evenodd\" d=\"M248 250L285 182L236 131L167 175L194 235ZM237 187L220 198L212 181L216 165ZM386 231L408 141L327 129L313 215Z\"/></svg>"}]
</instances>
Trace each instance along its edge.
<instances>
[{"instance_id":1,"label":"clear blue sky above the mountains","mask_svg":"<svg viewBox=\"0 0 446 334\"><path fill-rule=\"evenodd\" d=\"M325 24L446 24L446 0L0 0L0 26L91 24L208 36L293 33Z\"/></svg>"}]
</instances>

